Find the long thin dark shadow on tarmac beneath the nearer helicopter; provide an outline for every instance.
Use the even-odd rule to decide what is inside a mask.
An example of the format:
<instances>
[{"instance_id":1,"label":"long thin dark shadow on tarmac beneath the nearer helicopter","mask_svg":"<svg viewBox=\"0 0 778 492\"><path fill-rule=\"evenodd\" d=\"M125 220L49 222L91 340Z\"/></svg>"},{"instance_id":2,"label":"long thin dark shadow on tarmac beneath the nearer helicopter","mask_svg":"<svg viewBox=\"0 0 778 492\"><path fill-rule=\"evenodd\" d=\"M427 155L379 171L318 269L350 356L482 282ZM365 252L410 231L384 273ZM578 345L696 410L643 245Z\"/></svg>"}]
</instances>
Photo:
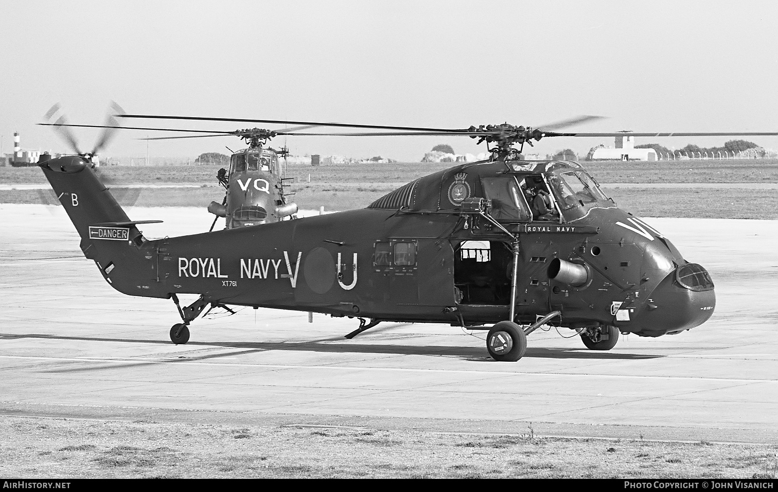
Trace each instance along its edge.
<instances>
[{"instance_id":1,"label":"long thin dark shadow on tarmac beneath the nearer helicopter","mask_svg":"<svg viewBox=\"0 0 778 492\"><path fill-rule=\"evenodd\" d=\"M56 340L82 340L87 342L121 342L121 343L156 343L159 345L170 345L169 340L161 339L121 339L121 338L103 338L92 336L58 336L38 333L29 333L23 335L0 333L0 339L56 339ZM458 357L463 360L475 362L496 362L484 353L481 347L474 346L419 346L419 345L385 345L373 343L331 343L333 339L312 340L303 343L289 342L194 342L187 343L187 346L221 346L233 349L248 349L240 352L219 353L195 357L185 357L180 359L159 359L159 360L137 360L131 364L153 364L153 363L175 363L178 361L192 361L216 359L219 357L230 357L237 354L251 352L265 352L268 350L291 350L297 352L323 352L323 353L387 353L394 355L422 355L422 356L443 356ZM587 351L584 349L549 349L543 347L528 347L524 357L535 357L540 359L579 359L579 360L643 360L657 359L667 357L661 354L647 353L612 353L600 351ZM129 362L129 361L128 361ZM111 364L110 367L117 367Z\"/></svg>"}]
</instances>

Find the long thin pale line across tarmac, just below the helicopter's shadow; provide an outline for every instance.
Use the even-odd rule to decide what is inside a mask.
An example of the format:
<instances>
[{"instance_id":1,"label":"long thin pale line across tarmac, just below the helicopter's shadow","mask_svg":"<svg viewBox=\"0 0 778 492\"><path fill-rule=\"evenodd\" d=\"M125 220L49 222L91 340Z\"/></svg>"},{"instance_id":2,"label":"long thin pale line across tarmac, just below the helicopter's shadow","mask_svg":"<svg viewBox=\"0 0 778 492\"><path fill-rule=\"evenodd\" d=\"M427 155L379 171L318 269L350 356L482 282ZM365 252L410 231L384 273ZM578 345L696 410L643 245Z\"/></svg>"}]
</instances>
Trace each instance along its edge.
<instances>
[{"instance_id":1,"label":"long thin pale line across tarmac, just below the helicopter's shadow","mask_svg":"<svg viewBox=\"0 0 778 492\"><path fill-rule=\"evenodd\" d=\"M565 378L606 378L606 379L647 379L647 380L683 380L683 381L714 381L714 382L741 382L741 383L776 383L778 379L745 379L745 378L692 378L689 376L639 376L628 374L574 374L560 372L520 372L520 371L475 371L469 369L421 369L418 367L363 367L363 366L300 366L292 364L245 364L237 362L203 362L199 360L161 359L161 360L137 360L137 359L97 359L88 357L37 357L23 355L0 355L0 359L25 359L25 360L56 360L61 362L94 362L99 364L115 363L127 364L192 364L226 367L262 367L266 369L333 369L338 371L398 371L398 372L440 372L454 374L486 374L503 376L548 376ZM511 363L513 364L513 363Z\"/></svg>"}]
</instances>

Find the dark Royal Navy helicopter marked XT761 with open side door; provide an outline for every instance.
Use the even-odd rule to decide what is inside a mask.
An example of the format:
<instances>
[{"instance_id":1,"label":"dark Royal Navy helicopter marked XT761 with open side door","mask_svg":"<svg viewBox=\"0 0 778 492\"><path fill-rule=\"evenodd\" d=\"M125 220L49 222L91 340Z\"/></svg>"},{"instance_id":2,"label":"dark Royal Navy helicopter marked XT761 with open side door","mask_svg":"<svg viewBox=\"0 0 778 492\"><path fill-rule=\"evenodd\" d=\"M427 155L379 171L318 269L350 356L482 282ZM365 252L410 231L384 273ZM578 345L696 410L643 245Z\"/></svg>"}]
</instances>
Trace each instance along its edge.
<instances>
[{"instance_id":1,"label":"dark Royal Navy helicopter marked XT761 with open side door","mask_svg":"<svg viewBox=\"0 0 778 492\"><path fill-rule=\"evenodd\" d=\"M465 129L280 121L392 130L327 135L466 135L491 145L491 156L420 177L364 209L158 240L143 236L137 226L148 221L128 218L86 156L39 165L106 281L173 300L177 344L205 307L227 304L359 318L349 339L380 322L488 330L496 360L519 360L541 325L610 350L619 333L653 337L703 324L716 297L702 265L619 209L584 167L522 160L520 151L551 136L778 134L555 131L585 119ZM182 293L200 297L181 307Z\"/></svg>"}]
</instances>

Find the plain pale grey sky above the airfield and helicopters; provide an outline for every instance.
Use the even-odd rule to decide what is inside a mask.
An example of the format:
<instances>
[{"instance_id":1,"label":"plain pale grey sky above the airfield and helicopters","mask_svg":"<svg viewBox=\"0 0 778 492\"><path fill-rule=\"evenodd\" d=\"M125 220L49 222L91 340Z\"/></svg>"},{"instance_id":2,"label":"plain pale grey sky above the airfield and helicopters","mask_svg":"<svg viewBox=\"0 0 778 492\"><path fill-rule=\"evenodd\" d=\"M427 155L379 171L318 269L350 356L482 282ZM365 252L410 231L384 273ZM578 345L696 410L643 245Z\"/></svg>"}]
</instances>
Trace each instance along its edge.
<instances>
[{"instance_id":1,"label":"plain pale grey sky above the airfield and helicopters","mask_svg":"<svg viewBox=\"0 0 778 492\"><path fill-rule=\"evenodd\" d=\"M14 131L24 148L65 152L35 123L59 102L72 123L101 124L110 100L129 113L436 128L598 114L609 118L575 129L778 131L778 2L0 0L0 7L4 153ZM84 149L97 137L76 134ZM143 136L124 130L103 155L145 156L146 142L136 140ZM778 149L778 137L747 139ZM464 137L289 137L293 153L398 160L419 160L437 143L485 151ZM612 139L544 139L535 148L586 153L598 143ZM194 157L226 153L224 146L240 142L151 142L149 153Z\"/></svg>"}]
</instances>

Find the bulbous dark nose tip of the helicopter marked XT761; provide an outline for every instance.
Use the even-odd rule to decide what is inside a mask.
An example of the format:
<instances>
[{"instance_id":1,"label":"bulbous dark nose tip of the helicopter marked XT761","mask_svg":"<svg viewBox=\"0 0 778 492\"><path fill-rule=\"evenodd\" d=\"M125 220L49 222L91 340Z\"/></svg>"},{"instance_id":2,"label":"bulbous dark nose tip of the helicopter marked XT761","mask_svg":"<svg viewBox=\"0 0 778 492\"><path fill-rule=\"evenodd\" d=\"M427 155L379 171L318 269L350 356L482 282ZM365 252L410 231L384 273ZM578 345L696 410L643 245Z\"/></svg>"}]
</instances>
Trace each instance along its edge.
<instances>
[{"instance_id":1,"label":"bulbous dark nose tip of the helicopter marked XT761","mask_svg":"<svg viewBox=\"0 0 778 492\"><path fill-rule=\"evenodd\" d=\"M701 265L678 266L654 289L641 316L644 332L654 336L692 329L708 321L716 307L713 280Z\"/></svg>"}]
</instances>

